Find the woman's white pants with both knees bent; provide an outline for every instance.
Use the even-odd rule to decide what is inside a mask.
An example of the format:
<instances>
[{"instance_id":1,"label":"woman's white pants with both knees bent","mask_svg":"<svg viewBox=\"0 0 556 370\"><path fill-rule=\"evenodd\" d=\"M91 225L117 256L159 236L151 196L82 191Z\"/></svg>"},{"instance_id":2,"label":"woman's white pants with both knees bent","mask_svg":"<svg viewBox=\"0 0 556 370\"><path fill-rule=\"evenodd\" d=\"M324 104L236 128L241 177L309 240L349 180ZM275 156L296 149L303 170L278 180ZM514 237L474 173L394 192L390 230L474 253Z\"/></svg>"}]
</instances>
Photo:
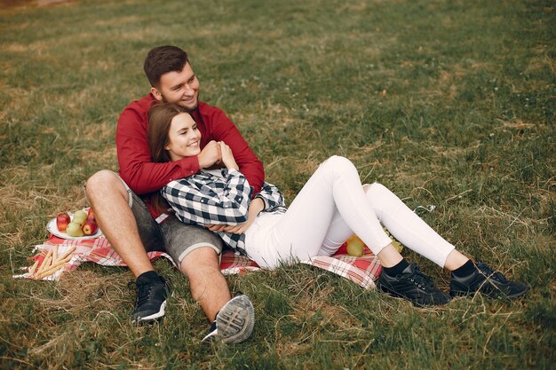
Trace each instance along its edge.
<instances>
[{"instance_id":1,"label":"woman's white pants with both knees bent","mask_svg":"<svg viewBox=\"0 0 556 370\"><path fill-rule=\"evenodd\" d=\"M363 190L353 163L338 156L319 166L286 213L261 213L245 232L245 249L258 265L272 269L332 256L355 233L377 255L392 241L382 224L441 267L454 249L385 186Z\"/></svg>"}]
</instances>

